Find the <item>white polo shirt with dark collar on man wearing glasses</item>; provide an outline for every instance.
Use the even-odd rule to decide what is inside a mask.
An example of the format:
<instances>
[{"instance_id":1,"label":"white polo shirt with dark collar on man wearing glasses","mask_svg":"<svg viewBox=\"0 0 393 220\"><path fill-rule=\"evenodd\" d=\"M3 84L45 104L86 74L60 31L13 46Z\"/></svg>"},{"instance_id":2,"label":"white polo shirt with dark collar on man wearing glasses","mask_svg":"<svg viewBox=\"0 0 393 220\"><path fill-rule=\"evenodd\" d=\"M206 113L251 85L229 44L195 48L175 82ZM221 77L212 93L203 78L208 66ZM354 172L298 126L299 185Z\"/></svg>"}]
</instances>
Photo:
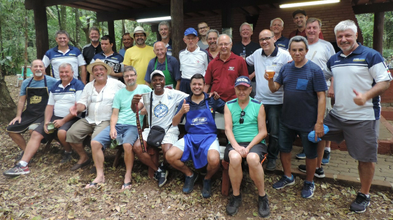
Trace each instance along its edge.
<instances>
[{"instance_id":1,"label":"white polo shirt with dark collar on man wearing glasses","mask_svg":"<svg viewBox=\"0 0 393 220\"><path fill-rule=\"evenodd\" d=\"M277 92L272 93L268 86L268 81L264 78L267 66L274 66L274 80L277 78L281 67L292 60L289 52L275 45L272 54L266 56L261 49L246 57L246 62L250 66L255 66L255 80L257 82L255 100L262 104L277 105L283 104L284 89L281 87Z\"/></svg>"}]
</instances>

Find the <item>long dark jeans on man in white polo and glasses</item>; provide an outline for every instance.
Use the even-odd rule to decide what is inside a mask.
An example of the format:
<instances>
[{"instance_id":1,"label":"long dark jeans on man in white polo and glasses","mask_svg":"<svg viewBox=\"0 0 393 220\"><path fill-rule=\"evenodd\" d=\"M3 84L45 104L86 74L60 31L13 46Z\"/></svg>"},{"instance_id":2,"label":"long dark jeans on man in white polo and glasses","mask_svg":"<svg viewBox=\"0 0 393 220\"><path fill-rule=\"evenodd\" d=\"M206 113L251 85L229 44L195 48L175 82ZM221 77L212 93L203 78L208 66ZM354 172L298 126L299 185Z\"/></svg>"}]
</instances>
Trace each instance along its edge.
<instances>
[{"instance_id":1,"label":"long dark jeans on man in white polo and glasses","mask_svg":"<svg viewBox=\"0 0 393 220\"><path fill-rule=\"evenodd\" d=\"M281 110L283 109L283 104L269 105L264 104L266 113L266 127L269 134L269 144L268 144L268 160L277 159L278 156L278 140L279 140L279 124L281 117Z\"/></svg>"}]
</instances>

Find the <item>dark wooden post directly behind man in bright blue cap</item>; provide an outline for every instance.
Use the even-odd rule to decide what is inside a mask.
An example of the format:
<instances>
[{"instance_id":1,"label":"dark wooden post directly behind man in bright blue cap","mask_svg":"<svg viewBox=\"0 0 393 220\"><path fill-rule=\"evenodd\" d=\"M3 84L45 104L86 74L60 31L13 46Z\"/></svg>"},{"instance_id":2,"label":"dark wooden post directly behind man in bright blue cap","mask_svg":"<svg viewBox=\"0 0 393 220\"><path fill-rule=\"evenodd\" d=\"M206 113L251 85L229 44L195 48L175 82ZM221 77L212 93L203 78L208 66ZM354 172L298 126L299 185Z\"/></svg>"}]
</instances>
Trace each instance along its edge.
<instances>
[{"instance_id":1,"label":"dark wooden post directly behind man in bright blue cap","mask_svg":"<svg viewBox=\"0 0 393 220\"><path fill-rule=\"evenodd\" d=\"M184 48L184 24L183 24L183 0L171 0L171 20L172 20L172 54L179 60L179 52Z\"/></svg>"}]
</instances>

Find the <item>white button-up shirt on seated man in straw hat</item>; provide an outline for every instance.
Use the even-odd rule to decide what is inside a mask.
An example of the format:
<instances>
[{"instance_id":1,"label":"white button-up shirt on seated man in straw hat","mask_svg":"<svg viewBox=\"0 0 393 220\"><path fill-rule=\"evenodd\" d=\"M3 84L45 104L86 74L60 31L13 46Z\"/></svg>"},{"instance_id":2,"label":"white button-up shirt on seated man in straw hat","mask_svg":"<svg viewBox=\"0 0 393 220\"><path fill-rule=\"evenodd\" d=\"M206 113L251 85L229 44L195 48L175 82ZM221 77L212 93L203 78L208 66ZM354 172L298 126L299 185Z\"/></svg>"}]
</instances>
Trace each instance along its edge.
<instances>
[{"instance_id":1,"label":"white button-up shirt on seated man in straw hat","mask_svg":"<svg viewBox=\"0 0 393 220\"><path fill-rule=\"evenodd\" d=\"M98 93L94 88L95 79L87 83L78 103L87 108L86 120L90 124L99 125L102 121L110 120L115 93L125 85L117 79L108 78L107 84Z\"/></svg>"}]
</instances>

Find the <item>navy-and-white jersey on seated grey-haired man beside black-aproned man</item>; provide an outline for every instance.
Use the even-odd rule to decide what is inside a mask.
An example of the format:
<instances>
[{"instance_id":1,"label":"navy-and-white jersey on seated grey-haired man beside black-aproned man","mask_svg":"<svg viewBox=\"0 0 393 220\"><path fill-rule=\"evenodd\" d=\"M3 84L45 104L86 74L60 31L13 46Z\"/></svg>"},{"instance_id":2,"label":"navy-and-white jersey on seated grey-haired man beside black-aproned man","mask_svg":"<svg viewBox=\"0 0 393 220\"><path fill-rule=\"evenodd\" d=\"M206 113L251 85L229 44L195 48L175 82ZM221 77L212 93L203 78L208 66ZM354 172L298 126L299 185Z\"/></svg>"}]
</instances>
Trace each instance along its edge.
<instances>
[{"instance_id":1,"label":"navy-and-white jersey on seated grey-haired man beside black-aproned man","mask_svg":"<svg viewBox=\"0 0 393 220\"><path fill-rule=\"evenodd\" d=\"M57 81L50 89L48 105L54 105L53 114L65 117L70 113L70 107L81 98L84 85L78 79L72 79L66 87Z\"/></svg>"}]
</instances>

